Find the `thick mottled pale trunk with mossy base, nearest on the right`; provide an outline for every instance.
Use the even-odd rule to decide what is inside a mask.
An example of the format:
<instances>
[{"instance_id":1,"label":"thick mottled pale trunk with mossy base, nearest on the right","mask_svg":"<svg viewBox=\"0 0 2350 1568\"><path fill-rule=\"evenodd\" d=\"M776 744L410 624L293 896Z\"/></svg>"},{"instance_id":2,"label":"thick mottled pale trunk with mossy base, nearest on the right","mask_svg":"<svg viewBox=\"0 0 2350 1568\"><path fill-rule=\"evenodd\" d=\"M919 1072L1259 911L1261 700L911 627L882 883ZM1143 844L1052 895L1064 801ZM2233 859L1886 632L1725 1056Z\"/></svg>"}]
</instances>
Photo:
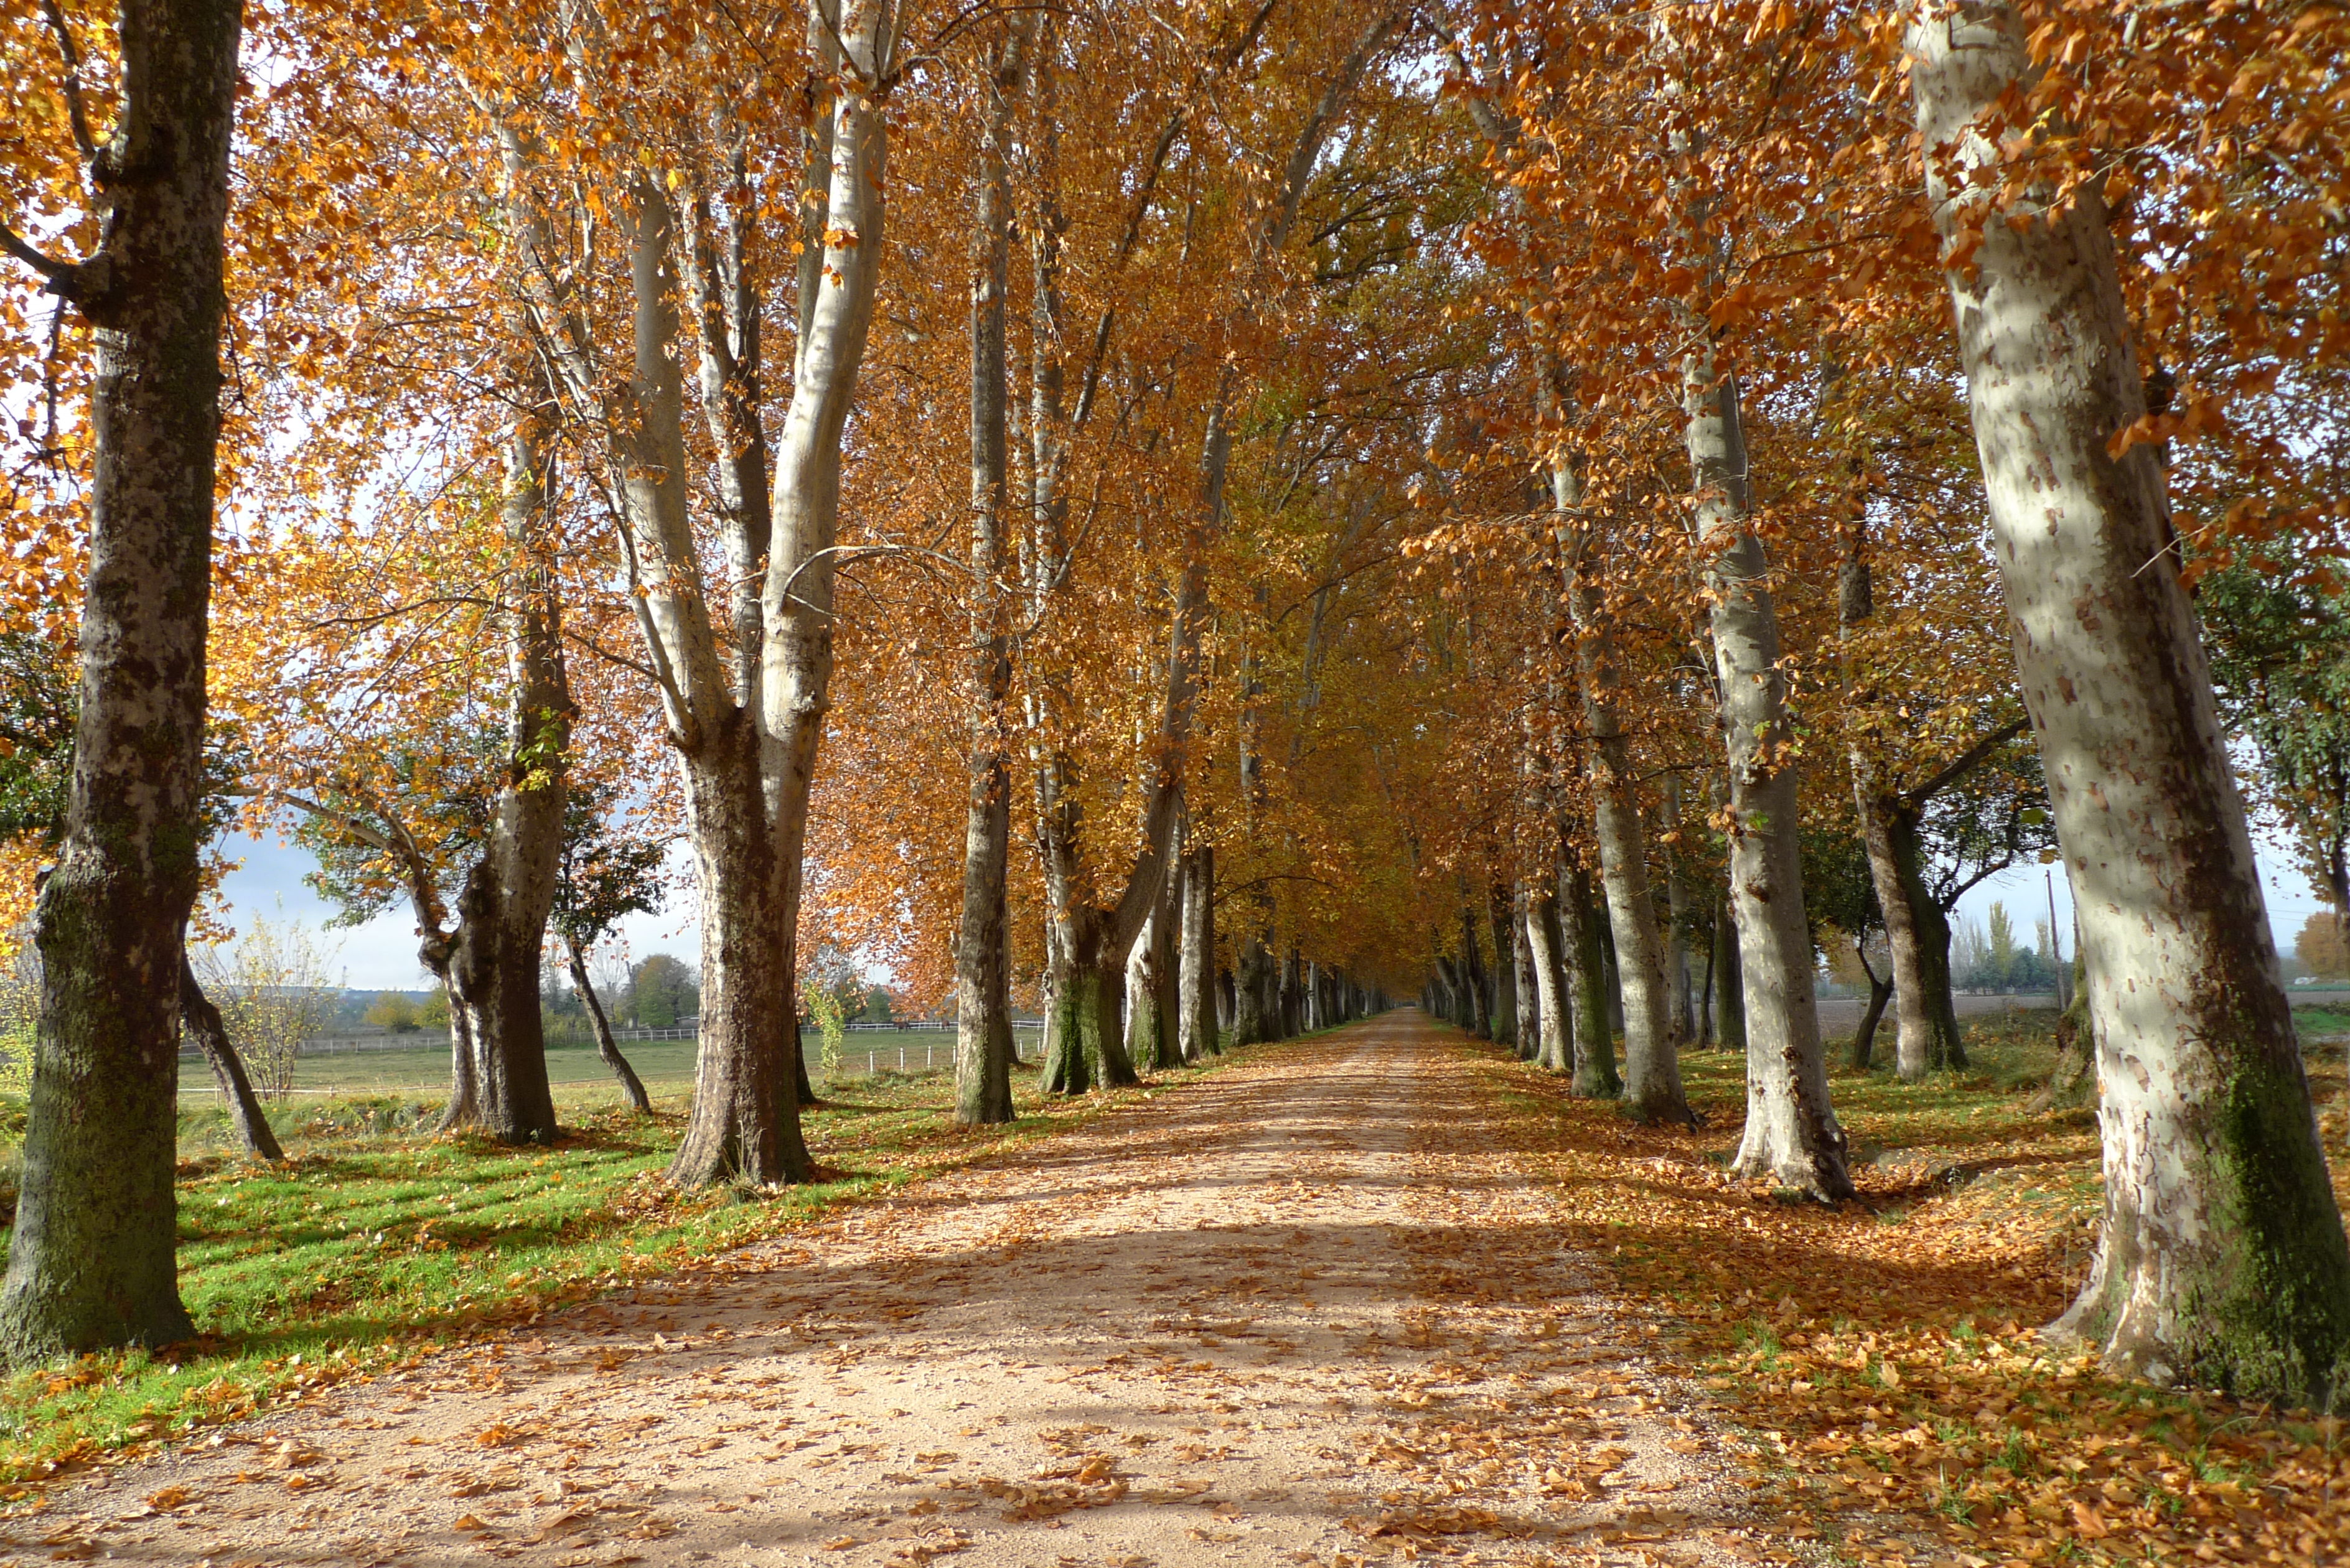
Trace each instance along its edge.
<instances>
[{"instance_id":1,"label":"thick mottled pale trunk with mossy base, nearest on the right","mask_svg":"<svg viewBox=\"0 0 2350 1568\"><path fill-rule=\"evenodd\" d=\"M2007 5L1920 16L1908 49L1934 221L1969 256L1948 273L1960 362L2089 969L2106 1227L2056 1331L2117 1371L2338 1406L2350 1244L2162 473L2108 447L2146 414L2108 214L2094 181L1993 209L1953 190L2002 160L2002 106L2030 87Z\"/></svg>"}]
</instances>

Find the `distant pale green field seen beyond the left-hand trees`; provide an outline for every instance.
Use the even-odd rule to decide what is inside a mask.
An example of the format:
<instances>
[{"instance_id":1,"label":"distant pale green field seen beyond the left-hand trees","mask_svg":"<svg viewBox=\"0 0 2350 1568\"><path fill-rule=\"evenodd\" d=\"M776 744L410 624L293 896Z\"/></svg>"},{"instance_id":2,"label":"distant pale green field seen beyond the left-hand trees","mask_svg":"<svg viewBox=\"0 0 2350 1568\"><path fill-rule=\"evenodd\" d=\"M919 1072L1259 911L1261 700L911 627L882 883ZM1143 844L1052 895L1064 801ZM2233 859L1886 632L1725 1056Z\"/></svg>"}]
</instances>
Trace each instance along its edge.
<instances>
[{"instance_id":1,"label":"distant pale green field seen beyond the left-hand trees","mask_svg":"<svg viewBox=\"0 0 2350 1568\"><path fill-rule=\"evenodd\" d=\"M1018 1034L1020 1056L1034 1058L1039 1037L1034 1030ZM860 1030L841 1044L841 1079L860 1079L872 1072L947 1070L954 1065L952 1030ZM684 1098L693 1088L693 1041L691 1039L639 1039L620 1041L646 1093L656 1100ZM808 1070L825 1079L818 1065L818 1039L808 1037ZM620 1086L611 1070L595 1053L595 1046L557 1046L548 1051L548 1084L555 1103L564 1110L595 1110L620 1103ZM294 1063L294 1088L303 1095L439 1095L449 1086L449 1046L435 1041L414 1051L343 1051L336 1056L306 1056ZM202 1063L181 1063L179 1093L197 1100L214 1098L212 1074Z\"/></svg>"}]
</instances>

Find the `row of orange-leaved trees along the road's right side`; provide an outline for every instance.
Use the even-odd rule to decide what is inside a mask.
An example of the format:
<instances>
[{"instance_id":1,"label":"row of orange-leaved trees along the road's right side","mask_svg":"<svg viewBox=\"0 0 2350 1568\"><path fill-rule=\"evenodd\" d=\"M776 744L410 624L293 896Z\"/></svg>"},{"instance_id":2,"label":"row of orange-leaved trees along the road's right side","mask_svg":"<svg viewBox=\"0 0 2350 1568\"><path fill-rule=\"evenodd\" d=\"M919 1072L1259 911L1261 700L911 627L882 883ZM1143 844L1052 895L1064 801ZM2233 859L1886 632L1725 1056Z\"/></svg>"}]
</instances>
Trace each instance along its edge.
<instances>
[{"instance_id":1,"label":"row of orange-leaved trees along the road's right side","mask_svg":"<svg viewBox=\"0 0 2350 1568\"><path fill-rule=\"evenodd\" d=\"M2303 160L2331 136L2315 106L2334 66L2310 45L2334 28L2009 5L1525 5L1466 24L1455 82L1506 183L1476 244L1518 282L1520 451L1546 494L1518 501L1532 538L1485 524L1513 470L1429 541L1450 571L1556 583L1532 602L1459 590L1485 658L1549 698L1480 715L1492 837L1462 858L1438 964L1466 978L1466 1023L1490 1027L1502 990L1478 983L1492 910L1490 969L1537 999L1520 1048L1532 1023L1565 1067L1572 1037L1577 1084L1614 1093L1605 1032L1586 1063L1577 1027L1612 945L1619 1093L1687 1117L1676 938L1725 863L1737 1166L1845 1197L1810 938L1868 922L1819 835L1842 818L1866 858L1913 1077L1962 1051L1918 820L2012 769L2030 788L1967 816L2061 849L2106 1095L2106 1244L2063 1328L2120 1366L2322 1399L2350 1342L2350 1253L2188 588L2218 585L2232 614L2247 574L2324 581L2305 555L2336 527L2324 463L2280 437L2284 409L2338 388L2345 348L2303 327L2334 320L2338 277L2308 268L2343 244L2319 195L2338 169ZM2294 150L2270 167L2254 146ZM2174 524L2174 498L2209 510ZM2268 696L2228 712L2268 778L2305 778L2322 745L2277 693L2324 663L2322 637L2303 635L2310 604L2270 611ZM1817 790L1838 752L1849 809ZM2294 783L2280 809L2322 867L2322 790ZM1600 940L1579 936L1593 922Z\"/></svg>"}]
</instances>

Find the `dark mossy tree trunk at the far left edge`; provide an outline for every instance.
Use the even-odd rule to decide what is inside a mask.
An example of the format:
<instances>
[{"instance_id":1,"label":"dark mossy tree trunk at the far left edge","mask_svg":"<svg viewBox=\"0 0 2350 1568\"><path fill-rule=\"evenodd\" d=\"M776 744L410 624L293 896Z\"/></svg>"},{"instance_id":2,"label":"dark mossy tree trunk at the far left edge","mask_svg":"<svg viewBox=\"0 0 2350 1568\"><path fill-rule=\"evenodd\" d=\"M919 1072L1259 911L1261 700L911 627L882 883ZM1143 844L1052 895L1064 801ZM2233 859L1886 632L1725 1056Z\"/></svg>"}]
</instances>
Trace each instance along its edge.
<instances>
[{"instance_id":1,"label":"dark mossy tree trunk at the far left edge","mask_svg":"<svg viewBox=\"0 0 2350 1568\"><path fill-rule=\"evenodd\" d=\"M94 327L80 717L42 954L0 1352L193 1333L174 1272L179 971L207 837L204 628L237 0L122 0L101 252L49 273ZM47 268L45 268L47 270Z\"/></svg>"}]
</instances>

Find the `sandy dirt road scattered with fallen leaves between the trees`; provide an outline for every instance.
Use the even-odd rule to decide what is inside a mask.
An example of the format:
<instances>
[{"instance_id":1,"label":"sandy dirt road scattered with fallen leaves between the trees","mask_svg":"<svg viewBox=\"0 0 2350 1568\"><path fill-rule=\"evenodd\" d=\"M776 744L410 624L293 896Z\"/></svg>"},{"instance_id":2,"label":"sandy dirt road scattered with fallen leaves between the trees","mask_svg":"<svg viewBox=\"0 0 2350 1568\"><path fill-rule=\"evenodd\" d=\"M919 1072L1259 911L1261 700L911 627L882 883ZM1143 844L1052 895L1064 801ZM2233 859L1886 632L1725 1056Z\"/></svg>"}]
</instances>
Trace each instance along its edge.
<instances>
[{"instance_id":1,"label":"sandy dirt road scattered with fallen leaves between the trees","mask_svg":"<svg viewBox=\"0 0 2350 1568\"><path fill-rule=\"evenodd\" d=\"M1457 1034L1264 1053L113 1469L21 1561L1730 1561L1713 1436L1563 1251Z\"/></svg>"}]
</instances>

